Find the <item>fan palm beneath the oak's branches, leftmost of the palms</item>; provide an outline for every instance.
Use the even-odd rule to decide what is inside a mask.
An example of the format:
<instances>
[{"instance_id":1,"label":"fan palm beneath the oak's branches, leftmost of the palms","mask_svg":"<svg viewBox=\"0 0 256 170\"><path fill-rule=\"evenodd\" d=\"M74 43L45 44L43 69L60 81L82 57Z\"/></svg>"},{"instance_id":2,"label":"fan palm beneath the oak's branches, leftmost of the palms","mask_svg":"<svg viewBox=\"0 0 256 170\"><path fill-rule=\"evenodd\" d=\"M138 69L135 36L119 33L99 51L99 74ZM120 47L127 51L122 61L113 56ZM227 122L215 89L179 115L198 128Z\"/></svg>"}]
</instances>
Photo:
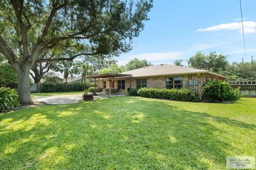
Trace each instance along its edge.
<instances>
[{"instance_id":1,"label":"fan palm beneath the oak's branches, leftmost of the palms","mask_svg":"<svg viewBox=\"0 0 256 170\"><path fill-rule=\"evenodd\" d=\"M66 83L68 82L69 74L72 77L74 74L79 73L79 69L78 69L77 65L74 64L73 62L62 61L62 62L59 62L58 65L59 65L58 71L64 75L64 79L66 79Z\"/></svg>"}]
</instances>

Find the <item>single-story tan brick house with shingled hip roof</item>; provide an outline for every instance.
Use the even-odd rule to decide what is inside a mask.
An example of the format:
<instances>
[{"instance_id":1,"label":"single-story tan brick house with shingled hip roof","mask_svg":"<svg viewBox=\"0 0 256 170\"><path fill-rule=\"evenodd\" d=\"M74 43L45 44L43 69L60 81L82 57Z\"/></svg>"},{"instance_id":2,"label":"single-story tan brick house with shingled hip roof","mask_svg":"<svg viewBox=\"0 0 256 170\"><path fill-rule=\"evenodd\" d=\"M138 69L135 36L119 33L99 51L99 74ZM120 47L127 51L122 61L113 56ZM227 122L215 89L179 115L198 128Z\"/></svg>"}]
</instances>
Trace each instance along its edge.
<instances>
[{"instance_id":1,"label":"single-story tan brick house with shingled hip roof","mask_svg":"<svg viewBox=\"0 0 256 170\"><path fill-rule=\"evenodd\" d=\"M147 66L121 74L130 74L126 77L96 79L97 88L119 89L122 94L129 88L188 88L200 91L206 80L228 79L227 77L207 70L193 69L170 64ZM110 81L110 83L109 83Z\"/></svg>"}]
</instances>

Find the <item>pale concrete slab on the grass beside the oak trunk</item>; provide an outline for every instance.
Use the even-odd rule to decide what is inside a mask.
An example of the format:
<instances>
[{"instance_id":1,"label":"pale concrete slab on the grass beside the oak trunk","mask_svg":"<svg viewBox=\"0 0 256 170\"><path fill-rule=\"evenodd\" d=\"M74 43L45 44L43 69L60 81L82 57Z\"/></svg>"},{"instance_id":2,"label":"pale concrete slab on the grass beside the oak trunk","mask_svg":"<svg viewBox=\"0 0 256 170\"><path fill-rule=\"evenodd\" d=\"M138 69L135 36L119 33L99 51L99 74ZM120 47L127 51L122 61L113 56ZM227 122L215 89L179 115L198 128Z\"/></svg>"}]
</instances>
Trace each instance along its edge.
<instances>
[{"instance_id":1,"label":"pale concrete slab on the grass beside the oak trunk","mask_svg":"<svg viewBox=\"0 0 256 170\"><path fill-rule=\"evenodd\" d=\"M33 101L41 102L50 105L66 105L77 103L78 101L83 100L83 96L79 95L59 95L59 96L42 96L34 97Z\"/></svg>"}]
</instances>

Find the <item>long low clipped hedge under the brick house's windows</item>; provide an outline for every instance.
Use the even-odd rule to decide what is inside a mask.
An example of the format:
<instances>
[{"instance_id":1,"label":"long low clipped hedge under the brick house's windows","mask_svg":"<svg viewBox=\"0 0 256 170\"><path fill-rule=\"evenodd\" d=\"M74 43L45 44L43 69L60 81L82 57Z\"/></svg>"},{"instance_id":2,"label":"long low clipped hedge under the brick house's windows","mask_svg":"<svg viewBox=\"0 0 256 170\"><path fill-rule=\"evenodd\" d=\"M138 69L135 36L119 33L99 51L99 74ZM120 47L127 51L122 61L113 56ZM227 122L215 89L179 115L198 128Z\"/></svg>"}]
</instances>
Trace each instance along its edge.
<instances>
[{"instance_id":1,"label":"long low clipped hedge under the brick house's windows","mask_svg":"<svg viewBox=\"0 0 256 170\"><path fill-rule=\"evenodd\" d=\"M138 90L140 97L169 99L178 101L198 101L198 94L189 89L157 89L141 88Z\"/></svg>"}]
</instances>

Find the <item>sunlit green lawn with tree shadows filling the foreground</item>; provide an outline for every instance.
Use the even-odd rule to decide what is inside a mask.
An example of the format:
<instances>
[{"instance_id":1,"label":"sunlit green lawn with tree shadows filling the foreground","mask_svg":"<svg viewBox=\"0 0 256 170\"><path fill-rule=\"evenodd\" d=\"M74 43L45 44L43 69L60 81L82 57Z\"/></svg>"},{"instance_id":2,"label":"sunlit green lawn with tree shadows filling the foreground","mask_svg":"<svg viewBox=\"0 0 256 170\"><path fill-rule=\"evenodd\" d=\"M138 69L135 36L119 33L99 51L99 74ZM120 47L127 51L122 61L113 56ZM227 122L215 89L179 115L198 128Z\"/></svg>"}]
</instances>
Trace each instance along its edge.
<instances>
[{"instance_id":1,"label":"sunlit green lawn with tree shadows filling the foreground","mask_svg":"<svg viewBox=\"0 0 256 170\"><path fill-rule=\"evenodd\" d=\"M256 155L256 98L113 97L0 115L2 169L226 169Z\"/></svg>"}]
</instances>

